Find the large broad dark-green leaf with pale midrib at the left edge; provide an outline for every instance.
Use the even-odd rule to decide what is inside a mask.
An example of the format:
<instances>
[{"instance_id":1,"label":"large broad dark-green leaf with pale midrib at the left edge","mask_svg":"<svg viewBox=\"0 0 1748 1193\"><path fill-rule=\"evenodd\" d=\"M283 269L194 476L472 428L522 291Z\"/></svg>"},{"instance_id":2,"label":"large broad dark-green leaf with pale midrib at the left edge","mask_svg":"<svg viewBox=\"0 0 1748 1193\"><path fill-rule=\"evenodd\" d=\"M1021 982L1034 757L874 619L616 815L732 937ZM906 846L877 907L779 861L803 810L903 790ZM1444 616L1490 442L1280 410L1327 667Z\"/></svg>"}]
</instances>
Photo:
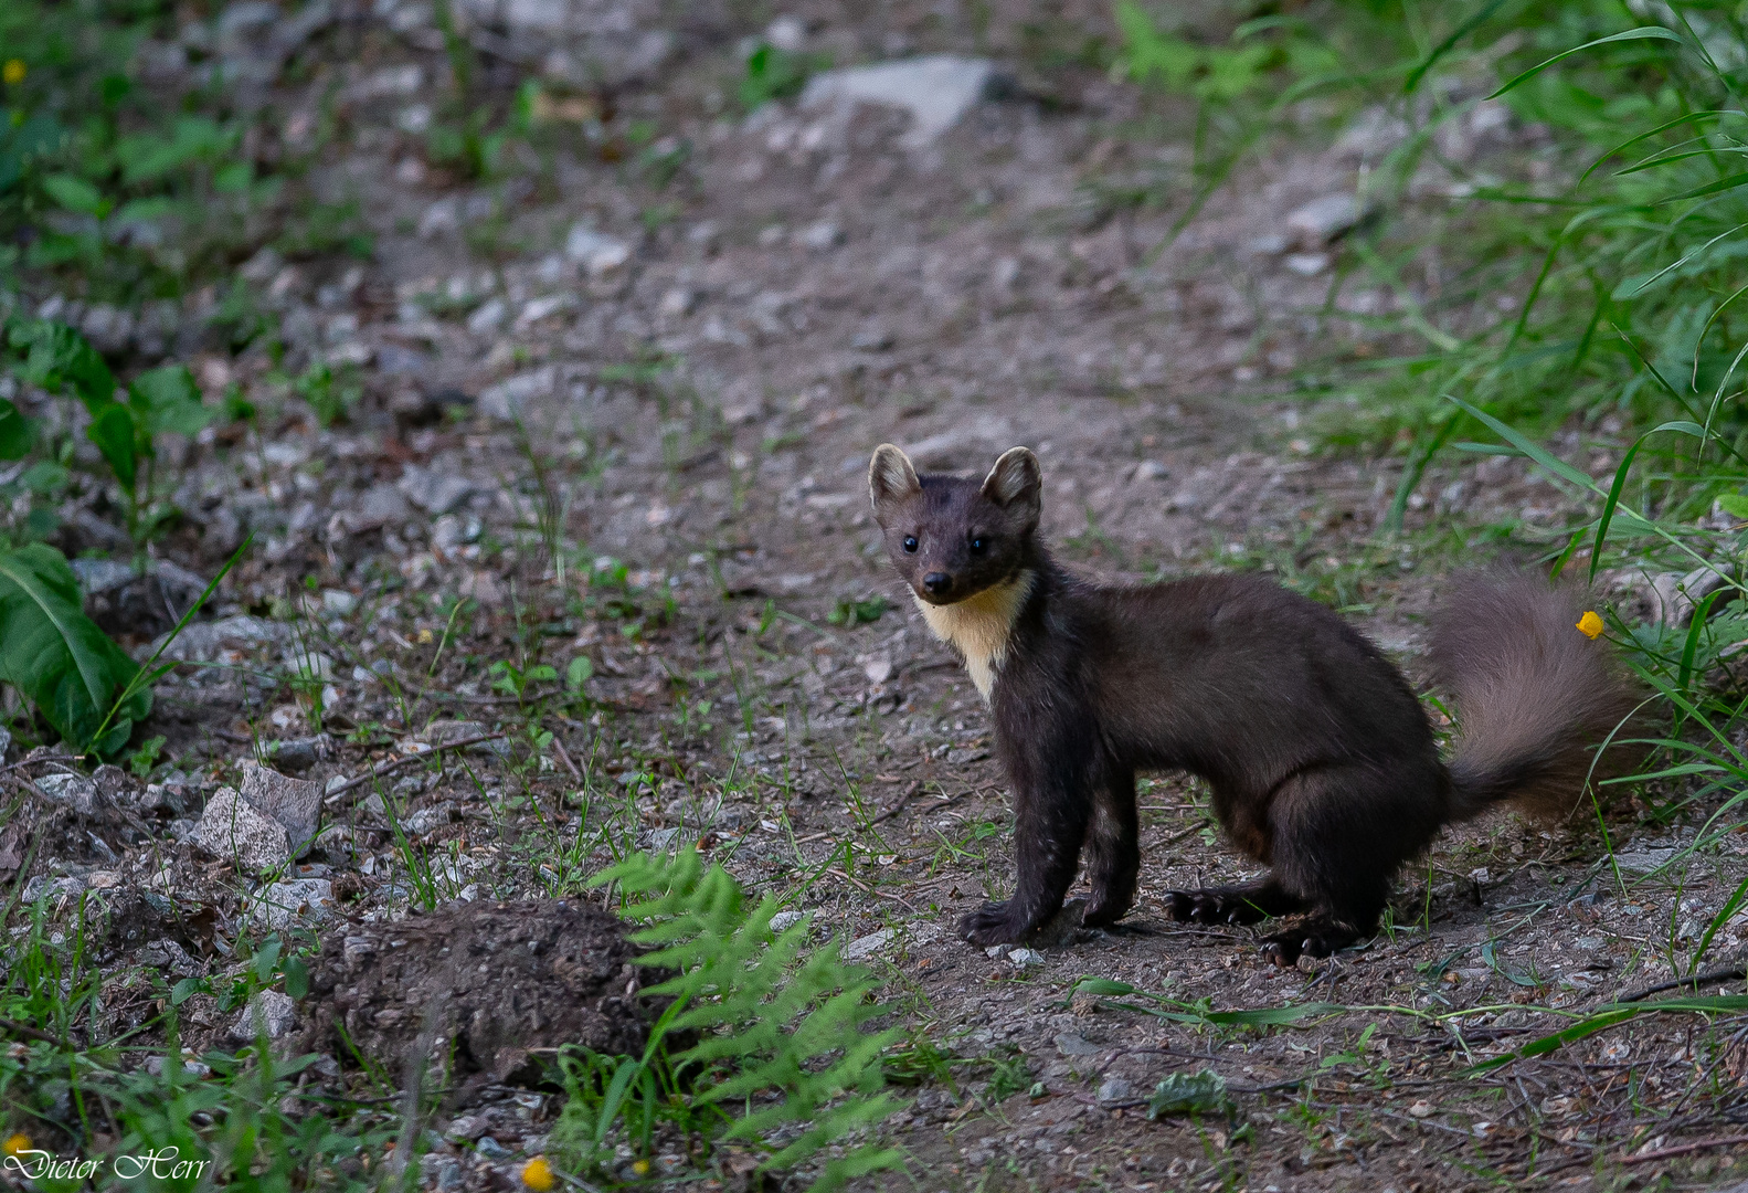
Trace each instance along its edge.
<instances>
[{"instance_id":1,"label":"large broad dark-green leaf with pale midrib at the left edge","mask_svg":"<svg viewBox=\"0 0 1748 1193\"><path fill-rule=\"evenodd\" d=\"M0 679L17 687L77 750L114 750L152 708L138 691L98 735L110 701L138 670L84 614L79 581L54 548L0 553Z\"/></svg>"}]
</instances>

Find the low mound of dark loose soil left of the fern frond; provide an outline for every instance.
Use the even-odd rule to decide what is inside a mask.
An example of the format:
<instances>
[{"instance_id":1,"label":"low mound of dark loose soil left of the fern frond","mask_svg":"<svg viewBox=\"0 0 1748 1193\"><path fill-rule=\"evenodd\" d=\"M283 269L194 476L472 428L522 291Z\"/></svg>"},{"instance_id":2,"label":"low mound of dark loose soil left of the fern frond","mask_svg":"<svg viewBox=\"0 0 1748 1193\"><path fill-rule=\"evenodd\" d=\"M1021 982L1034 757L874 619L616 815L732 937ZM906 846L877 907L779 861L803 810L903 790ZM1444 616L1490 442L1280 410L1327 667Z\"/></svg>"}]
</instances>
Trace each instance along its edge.
<instances>
[{"instance_id":1,"label":"low mound of dark loose soil left of the fern frond","mask_svg":"<svg viewBox=\"0 0 1748 1193\"><path fill-rule=\"evenodd\" d=\"M308 1050L353 1048L390 1074L409 1062L449 1083L540 1081L542 1050L642 1053L661 1015L638 990L624 925L575 901L463 903L322 939L304 1004ZM344 1032L344 1034L343 1034Z\"/></svg>"}]
</instances>

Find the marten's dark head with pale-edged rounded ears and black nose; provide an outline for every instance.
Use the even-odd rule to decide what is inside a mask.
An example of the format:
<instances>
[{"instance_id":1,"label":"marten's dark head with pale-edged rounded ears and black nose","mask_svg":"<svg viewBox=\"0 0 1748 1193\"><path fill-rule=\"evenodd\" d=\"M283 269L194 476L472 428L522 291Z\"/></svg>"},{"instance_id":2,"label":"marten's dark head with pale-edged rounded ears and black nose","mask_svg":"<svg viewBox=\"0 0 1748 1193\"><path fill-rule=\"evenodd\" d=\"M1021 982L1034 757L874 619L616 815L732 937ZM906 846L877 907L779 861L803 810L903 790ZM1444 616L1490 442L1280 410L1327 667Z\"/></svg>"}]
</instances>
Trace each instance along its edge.
<instances>
[{"instance_id":1,"label":"marten's dark head with pale-edged rounded ears and black nose","mask_svg":"<svg viewBox=\"0 0 1748 1193\"><path fill-rule=\"evenodd\" d=\"M886 555L918 600L951 605L995 588L1033 556L1044 474L1038 457L1010 448L981 483L967 476L918 476L890 443L869 464L874 520Z\"/></svg>"}]
</instances>

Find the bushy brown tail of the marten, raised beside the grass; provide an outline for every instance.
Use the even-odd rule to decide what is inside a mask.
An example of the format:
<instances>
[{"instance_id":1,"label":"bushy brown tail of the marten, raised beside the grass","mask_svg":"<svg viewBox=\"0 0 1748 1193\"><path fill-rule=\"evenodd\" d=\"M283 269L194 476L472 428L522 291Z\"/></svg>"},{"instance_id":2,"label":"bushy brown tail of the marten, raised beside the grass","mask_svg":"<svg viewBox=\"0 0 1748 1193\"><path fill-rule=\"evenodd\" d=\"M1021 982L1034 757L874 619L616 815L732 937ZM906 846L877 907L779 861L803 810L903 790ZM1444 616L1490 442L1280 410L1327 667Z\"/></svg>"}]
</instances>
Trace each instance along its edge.
<instances>
[{"instance_id":1,"label":"bushy brown tail of the marten, raised beside the grass","mask_svg":"<svg viewBox=\"0 0 1748 1193\"><path fill-rule=\"evenodd\" d=\"M1610 745L1596 763L1610 733L1638 736L1624 722L1640 701L1610 644L1578 630L1589 600L1584 588L1536 576L1477 576L1433 617L1433 680L1456 701L1458 817L1512 799L1563 819L1580 806L1587 777L1627 773L1645 757L1643 747Z\"/></svg>"}]
</instances>

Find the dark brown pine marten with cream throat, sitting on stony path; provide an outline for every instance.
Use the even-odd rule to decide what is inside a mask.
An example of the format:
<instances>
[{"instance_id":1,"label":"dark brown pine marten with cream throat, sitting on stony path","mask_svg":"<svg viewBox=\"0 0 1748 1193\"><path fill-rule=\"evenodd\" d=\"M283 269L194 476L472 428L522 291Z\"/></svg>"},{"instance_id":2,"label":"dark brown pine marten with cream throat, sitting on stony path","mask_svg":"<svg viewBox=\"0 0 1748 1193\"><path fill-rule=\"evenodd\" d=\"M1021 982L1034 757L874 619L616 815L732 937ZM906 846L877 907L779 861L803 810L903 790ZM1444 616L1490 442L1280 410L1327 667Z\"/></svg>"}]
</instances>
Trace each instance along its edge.
<instances>
[{"instance_id":1,"label":"dark brown pine marten with cream throat, sitting on stony path","mask_svg":"<svg viewBox=\"0 0 1748 1193\"><path fill-rule=\"evenodd\" d=\"M961 920L977 945L1054 917L1082 847L1084 924L1120 920L1141 864L1134 775L1178 770L1210 784L1232 845L1271 873L1171 890L1168 915L1302 913L1264 950L1281 966L1327 957L1372 934L1440 826L1507 799L1570 813L1594 747L1634 708L1608 642L1575 624L1584 590L1472 579L1432 623L1433 679L1460 717L1446 763L1402 672L1323 605L1259 576L1115 586L1061 569L1026 448L979 483L918 476L884 444L869 490L893 567L989 705L1012 784L1019 882Z\"/></svg>"}]
</instances>

